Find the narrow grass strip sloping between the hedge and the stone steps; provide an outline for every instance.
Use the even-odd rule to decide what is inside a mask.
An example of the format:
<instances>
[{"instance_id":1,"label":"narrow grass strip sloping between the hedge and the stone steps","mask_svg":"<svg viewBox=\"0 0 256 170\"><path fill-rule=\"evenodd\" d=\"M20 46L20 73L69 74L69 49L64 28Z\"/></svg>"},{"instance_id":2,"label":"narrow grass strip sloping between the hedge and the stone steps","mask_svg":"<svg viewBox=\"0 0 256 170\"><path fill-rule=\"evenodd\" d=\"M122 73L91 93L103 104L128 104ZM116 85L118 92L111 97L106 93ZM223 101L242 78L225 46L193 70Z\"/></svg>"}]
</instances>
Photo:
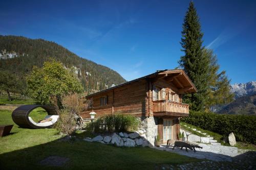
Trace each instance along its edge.
<instances>
[{"instance_id":1,"label":"narrow grass strip sloping between the hedge and the stone steps","mask_svg":"<svg viewBox=\"0 0 256 170\"><path fill-rule=\"evenodd\" d=\"M184 126L184 125L186 125L186 126ZM220 142L221 145L229 146L229 143L224 143L223 142L223 136L218 134L218 133L207 131L207 130L201 129L199 127L187 124L185 122L180 122L180 127L182 129L186 130L186 131L189 131L189 132L195 134L195 135L205 137L205 135L192 130L192 129L197 129L197 130L201 131L202 133L206 133L207 135L210 135L211 137L214 137L214 139L217 140L218 142ZM190 127L190 128L188 128L188 127ZM239 149L247 149L247 150L256 151L256 145L251 144L251 143L237 142L235 147L237 147Z\"/></svg>"}]
</instances>

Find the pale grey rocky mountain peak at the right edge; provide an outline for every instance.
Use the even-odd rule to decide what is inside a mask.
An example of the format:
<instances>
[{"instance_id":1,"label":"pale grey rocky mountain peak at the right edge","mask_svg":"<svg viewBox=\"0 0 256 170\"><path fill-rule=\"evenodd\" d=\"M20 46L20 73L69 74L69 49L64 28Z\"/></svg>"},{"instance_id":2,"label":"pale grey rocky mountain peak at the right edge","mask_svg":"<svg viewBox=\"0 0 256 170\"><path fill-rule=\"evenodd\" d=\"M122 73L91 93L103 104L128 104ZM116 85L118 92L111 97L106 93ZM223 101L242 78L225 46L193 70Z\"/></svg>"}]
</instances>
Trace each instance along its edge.
<instances>
[{"instance_id":1,"label":"pale grey rocky mountain peak at the right edge","mask_svg":"<svg viewBox=\"0 0 256 170\"><path fill-rule=\"evenodd\" d=\"M235 94L234 98L256 94L256 81L248 83L236 83L231 85L231 92Z\"/></svg>"}]
</instances>

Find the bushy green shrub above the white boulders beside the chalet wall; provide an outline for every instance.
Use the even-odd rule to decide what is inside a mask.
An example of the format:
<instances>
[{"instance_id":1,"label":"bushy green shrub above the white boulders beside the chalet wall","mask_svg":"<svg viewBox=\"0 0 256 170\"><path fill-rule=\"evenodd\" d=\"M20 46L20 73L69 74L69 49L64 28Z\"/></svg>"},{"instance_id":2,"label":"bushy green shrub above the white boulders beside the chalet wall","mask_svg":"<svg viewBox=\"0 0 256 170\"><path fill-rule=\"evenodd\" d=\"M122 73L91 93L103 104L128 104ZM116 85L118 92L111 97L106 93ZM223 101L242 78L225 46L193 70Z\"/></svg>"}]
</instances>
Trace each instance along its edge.
<instances>
[{"instance_id":1,"label":"bushy green shrub above the white boulders beside the chalet wall","mask_svg":"<svg viewBox=\"0 0 256 170\"><path fill-rule=\"evenodd\" d=\"M135 131L139 126L139 120L132 115L127 114L109 114L105 115L94 122L87 124L86 129L88 131L101 132L124 132ZM106 126L105 129L101 128L101 125Z\"/></svg>"}]
</instances>

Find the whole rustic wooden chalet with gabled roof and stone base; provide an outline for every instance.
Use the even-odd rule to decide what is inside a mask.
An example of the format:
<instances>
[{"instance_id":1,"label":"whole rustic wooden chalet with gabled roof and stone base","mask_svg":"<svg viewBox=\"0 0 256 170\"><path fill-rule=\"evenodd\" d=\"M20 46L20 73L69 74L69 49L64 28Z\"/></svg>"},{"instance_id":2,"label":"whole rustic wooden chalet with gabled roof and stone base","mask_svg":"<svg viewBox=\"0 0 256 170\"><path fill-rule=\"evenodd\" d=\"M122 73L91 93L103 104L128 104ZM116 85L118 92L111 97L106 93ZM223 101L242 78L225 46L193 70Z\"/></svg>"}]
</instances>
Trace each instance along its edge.
<instances>
[{"instance_id":1,"label":"whole rustic wooden chalet with gabled roof and stone base","mask_svg":"<svg viewBox=\"0 0 256 170\"><path fill-rule=\"evenodd\" d=\"M159 134L163 142L177 139L179 117L188 116L189 105L182 95L197 92L197 88L182 69L161 70L102 91L87 95L92 101L83 118L105 114L132 114L145 124L147 139L154 143ZM154 145L154 144L153 144Z\"/></svg>"}]
</instances>

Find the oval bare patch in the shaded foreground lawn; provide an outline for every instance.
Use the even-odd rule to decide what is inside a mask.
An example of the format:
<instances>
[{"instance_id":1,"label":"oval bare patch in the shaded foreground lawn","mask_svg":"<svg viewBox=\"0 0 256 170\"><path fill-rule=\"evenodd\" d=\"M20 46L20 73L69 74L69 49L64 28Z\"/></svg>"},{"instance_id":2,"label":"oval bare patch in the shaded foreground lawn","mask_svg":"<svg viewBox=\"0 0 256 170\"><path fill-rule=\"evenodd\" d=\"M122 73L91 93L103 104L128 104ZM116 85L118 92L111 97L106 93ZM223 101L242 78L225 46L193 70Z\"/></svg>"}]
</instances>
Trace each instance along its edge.
<instances>
[{"instance_id":1,"label":"oval bare patch in the shaded foreground lawn","mask_svg":"<svg viewBox=\"0 0 256 170\"><path fill-rule=\"evenodd\" d=\"M69 158L65 158L65 157L49 156L44 160L41 160L40 164L47 165L47 166L63 166L68 160Z\"/></svg>"}]
</instances>

